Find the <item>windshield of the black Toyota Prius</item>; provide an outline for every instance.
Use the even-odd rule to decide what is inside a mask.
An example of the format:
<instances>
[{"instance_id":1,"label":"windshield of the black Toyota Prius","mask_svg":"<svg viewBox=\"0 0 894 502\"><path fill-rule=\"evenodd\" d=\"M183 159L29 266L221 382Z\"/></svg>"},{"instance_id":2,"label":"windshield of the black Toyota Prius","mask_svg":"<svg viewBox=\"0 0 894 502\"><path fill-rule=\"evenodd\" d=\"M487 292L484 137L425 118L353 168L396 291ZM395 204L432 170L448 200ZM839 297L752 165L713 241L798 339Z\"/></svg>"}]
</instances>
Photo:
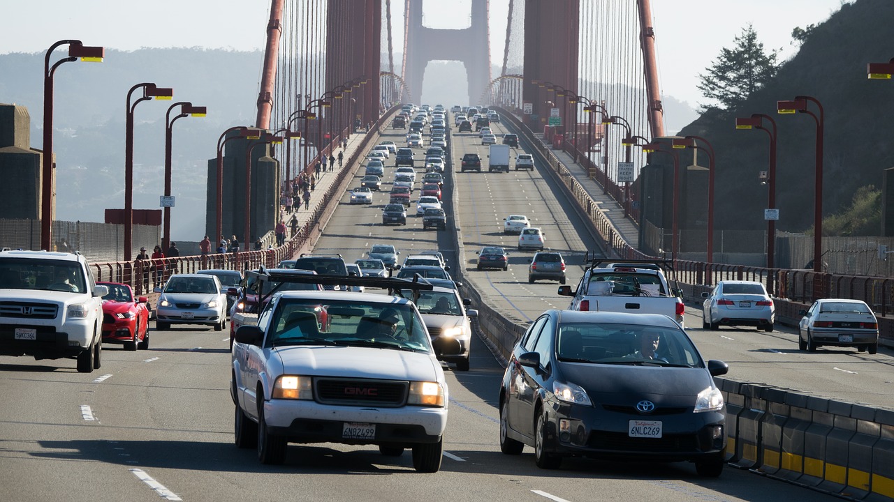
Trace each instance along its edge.
<instances>
[{"instance_id":1,"label":"windshield of the black Toyota Prius","mask_svg":"<svg viewBox=\"0 0 894 502\"><path fill-rule=\"evenodd\" d=\"M569 322L559 325L557 341L560 361L703 366L696 347L678 328Z\"/></svg>"}]
</instances>

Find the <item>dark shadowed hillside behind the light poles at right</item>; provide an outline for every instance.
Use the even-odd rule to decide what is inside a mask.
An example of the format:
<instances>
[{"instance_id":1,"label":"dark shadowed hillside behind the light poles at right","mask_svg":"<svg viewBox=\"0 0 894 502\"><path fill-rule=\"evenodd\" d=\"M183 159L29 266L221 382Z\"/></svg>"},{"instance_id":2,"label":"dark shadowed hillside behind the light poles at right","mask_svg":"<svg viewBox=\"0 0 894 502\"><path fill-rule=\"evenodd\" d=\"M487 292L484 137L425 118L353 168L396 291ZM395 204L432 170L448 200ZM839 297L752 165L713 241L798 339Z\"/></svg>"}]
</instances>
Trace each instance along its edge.
<instances>
[{"instance_id":1,"label":"dark shadowed hillside behind the light poles at right","mask_svg":"<svg viewBox=\"0 0 894 502\"><path fill-rule=\"evenodd\" d=\"M894 104L894 83L867 79L866 63L894 57L891 19L894 2L890 0L843 4L814 29L776 78L745 104L728 113L706 113L680 131L704 137L713 145L715 231L766 228L767 188L759 184L758 172L767 170L769 141L763 131L735 128L736 117L752 113L771 115L779 128L777 229L803 232L813 225L815 122L805 113L776 113L778 100L814 96L822 103L825 215L849 205L856 188L881 188L882 172L894 162L894 123L887 114ZM703 195L706 204L707 195Z\"/></svg>"}]
</instances>

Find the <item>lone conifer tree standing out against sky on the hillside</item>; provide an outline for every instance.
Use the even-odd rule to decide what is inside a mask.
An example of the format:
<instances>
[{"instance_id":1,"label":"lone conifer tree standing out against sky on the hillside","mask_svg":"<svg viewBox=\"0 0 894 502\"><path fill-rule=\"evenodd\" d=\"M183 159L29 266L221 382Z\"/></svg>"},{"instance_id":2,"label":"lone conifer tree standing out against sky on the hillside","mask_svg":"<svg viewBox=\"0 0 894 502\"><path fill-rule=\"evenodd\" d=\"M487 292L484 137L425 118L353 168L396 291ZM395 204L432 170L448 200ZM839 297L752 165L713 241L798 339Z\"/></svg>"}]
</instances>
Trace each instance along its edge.
<instances>
[{"instance_id":1,"label":"lone conifer tree standing out against sky on the hillside","mask_svg":"<svg viewBox=\"0 0 894 502\"><path fill-rule=\"evenodd\" d=\"M723 47L721 54L706 74L699 74L701 83L697 86L705 97L719 105L703 105L702 111L711 109L732 109L745 101L755 90L762 88L779 69L776 55L779 51L767 53L757 40L755 29L749 24L733 39L733 48Z\"/></svg>"}]
</instances>

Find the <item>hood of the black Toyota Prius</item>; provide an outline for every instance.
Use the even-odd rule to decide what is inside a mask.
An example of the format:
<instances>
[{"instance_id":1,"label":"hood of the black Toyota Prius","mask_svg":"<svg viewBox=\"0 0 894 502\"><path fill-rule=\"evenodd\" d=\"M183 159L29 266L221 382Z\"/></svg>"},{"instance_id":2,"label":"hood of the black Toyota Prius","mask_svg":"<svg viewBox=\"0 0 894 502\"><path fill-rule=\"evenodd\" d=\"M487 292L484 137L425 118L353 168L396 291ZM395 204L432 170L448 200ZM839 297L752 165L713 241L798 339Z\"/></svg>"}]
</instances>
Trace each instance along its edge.
<instances>
[{"instance_id":1,"label":"hood of the black Toyota Prius","mask_svg":"<svg viewBox=\"0 0 894 502\"><path fill-rule=\"evenodd\" d=\"M597 406L635 406L643 399L657 406L694 406L696 395L713 385L704 368L559 364L565 380L583 387Z\"/></svg>"}]
</instances>

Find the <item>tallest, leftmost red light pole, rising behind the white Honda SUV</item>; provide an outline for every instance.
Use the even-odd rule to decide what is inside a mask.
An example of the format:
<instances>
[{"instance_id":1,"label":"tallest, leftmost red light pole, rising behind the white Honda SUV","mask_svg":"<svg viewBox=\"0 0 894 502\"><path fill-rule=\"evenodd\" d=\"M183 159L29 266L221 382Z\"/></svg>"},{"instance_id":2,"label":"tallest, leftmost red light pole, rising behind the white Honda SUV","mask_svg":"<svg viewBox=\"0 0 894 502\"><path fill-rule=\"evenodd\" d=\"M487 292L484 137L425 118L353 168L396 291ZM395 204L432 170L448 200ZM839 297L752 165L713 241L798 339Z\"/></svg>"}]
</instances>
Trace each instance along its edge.
<instances>
[{"instance_id":1,"label":"tallest, leftmost red light pole, rising behind the white Honda SUV","mask_svg":"<svg viewBox=\"0 0 894 502\"><path fill-rule=\"evenodd\" d=\"M68 57L64 57L50 66L50 54L56 47L68 44ZM40 248L53 250L53 202L55 184L53 172L53 76L56 68L62 63L76 61L79 57L84 62L101 62L105 49L97 46L83 46L80 40L59 40L44 56L44 152L41 166L40 185Z\"/></svg>"}]
</instances>

